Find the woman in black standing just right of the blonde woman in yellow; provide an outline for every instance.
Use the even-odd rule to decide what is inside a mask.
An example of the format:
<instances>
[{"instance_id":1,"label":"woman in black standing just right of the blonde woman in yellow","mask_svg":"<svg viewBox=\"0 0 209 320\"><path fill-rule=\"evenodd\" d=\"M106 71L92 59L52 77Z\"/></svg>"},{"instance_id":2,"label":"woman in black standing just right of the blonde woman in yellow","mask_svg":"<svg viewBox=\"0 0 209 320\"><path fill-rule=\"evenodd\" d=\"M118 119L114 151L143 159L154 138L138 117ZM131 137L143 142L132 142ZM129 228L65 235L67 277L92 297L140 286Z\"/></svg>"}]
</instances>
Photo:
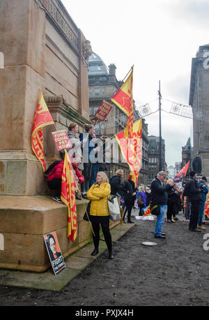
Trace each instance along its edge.
<instances>
[{"instance_id":1,"label":"woman in black standing just right of the blonde woman in yellow","mask_svg":"<svg viewBox=\"0 0 209 320\"><path fill-rule=\"evenodd\" d=\"M125 223L125 214L127 212L127 224L134 224L134 222L130 219L132 208L134 207L134 202L137 194L137 189L135 187L134 182L132 181L132 175L127 176L127 180L124 184L124 202L125 209L123 212L123 223Z\"/></svg>"}]
</instances>

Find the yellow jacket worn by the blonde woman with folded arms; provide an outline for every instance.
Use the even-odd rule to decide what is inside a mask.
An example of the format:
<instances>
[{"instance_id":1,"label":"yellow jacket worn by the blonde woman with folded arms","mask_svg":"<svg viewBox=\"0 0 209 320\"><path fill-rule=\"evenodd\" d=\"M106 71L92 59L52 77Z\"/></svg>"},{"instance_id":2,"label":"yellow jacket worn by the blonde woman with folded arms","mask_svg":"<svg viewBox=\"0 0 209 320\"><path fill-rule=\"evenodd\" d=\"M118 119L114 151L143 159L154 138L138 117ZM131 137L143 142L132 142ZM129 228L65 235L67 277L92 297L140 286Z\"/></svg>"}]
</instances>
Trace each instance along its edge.
<instances>
[{"instance_id":1,"label":"yellow jacket worn by the blonde woman with folded arms","mask_svg":"<svg viewBox=\"0 0 209 320\"><path fill-rule=\"evenodd\" d=\"M91 200L90 214L93 216L108 216L108 203L107 199L110 194L110 184L102 182L99 184L93 184L88 190L86 196Z\"/></svg>"}]
</instances>

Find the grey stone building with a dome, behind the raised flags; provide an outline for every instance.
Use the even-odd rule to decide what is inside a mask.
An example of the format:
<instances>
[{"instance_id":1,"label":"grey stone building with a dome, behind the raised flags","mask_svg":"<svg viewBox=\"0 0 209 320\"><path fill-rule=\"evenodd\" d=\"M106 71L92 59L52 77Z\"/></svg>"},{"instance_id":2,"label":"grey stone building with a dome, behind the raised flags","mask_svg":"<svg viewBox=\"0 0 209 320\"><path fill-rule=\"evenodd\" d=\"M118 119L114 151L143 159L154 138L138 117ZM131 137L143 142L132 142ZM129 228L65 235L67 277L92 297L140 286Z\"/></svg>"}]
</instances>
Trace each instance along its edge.
<instances>
[{"instance_id":1,"label":"grey stone building with a dome, behind the raised flags","mask_svg":"<svg viewBox=\"0 0 209 320\"><path fill-rule=\"evenodd\" d=\"M116 66L110 64L108 67L104 64L104 61L98 56L93 54L88 59L88 89L89 89L89 116L93 120L95 112L97 112L103 100L111 103L113 108L109 112L107 119L104 122L98 122L95 124L95 134L98 136L107 136L109 138L114 137L118 132L125 129L127 116L124 112L118 108L114 103L110 101L111 96L121 87L121 81L116 78ZM139 113L134 106L134 121L139 119ZM139 183L146 183L147 170L148 170L148 125L144 119L142 121L142 159L141 170L139 172ZM118 147L118 145L116 145ZM127 175L130 173L129 166L122 159L121 150L118 147L118 162L114 162L113 148L111 150L111 163L107 163L107 175L111 177L116 173L116 170L122 168L124 171L123 179L127 179Z\"/></svg>"}]
</instances>

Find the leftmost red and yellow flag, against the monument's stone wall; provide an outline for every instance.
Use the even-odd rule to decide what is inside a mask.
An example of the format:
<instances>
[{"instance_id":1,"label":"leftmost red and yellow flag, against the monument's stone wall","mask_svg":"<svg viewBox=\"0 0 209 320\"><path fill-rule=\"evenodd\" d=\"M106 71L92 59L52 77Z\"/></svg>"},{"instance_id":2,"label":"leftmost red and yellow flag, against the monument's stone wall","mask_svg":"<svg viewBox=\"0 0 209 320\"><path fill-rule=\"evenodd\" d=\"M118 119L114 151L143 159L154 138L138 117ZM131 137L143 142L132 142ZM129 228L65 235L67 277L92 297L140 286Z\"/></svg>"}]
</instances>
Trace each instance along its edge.
<instances>
[{"instance_id":1,"label":"leftmost red and yellow flag, against the monument's stone wall","mask_svg":"<svg viewBox=\"0 0 209 320\"><path fill-rule=\"evenodd\" d=\"M44 126L49 126L50 124L54 124L54 121L49 112L49 109L47 108L45 99L43 98L42 92L41 92L40 98L38 101L38 106L36 108L36 113L33 119L31 145L32 145L33 152L36 154L36 157L42 164L42 170L44 172L46 170L46 163L45 163L43 142L42 142L42 128Z\"/></svg>"}]
</instances>

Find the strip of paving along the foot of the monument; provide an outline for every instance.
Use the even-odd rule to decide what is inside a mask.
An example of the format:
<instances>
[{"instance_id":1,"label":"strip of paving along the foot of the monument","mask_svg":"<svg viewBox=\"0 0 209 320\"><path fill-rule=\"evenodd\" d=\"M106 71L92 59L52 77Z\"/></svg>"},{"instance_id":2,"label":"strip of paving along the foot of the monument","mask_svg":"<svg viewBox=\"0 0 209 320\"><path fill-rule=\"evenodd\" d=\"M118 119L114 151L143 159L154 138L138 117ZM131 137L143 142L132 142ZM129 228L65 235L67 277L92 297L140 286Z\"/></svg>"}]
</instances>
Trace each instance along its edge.
<instances>
[{"instance_id":1,"label":"strip of paving along the foot of the monument","mask_svg":"<svg viewBox=\"0 0 209 320\"><path fill-rule=\"evenodd\" d=\"M132 226L134 226L134 224L123 224L111 228L112 241L117 241L127 233ZM100 239L104 240L104 237L102 236ZM94 249L93 243L91 242L74 254L68 256L65 259L66 268L58 275L54 275L52 268L42 273L0 269L0 285L60 291L72 279L77 277L82 270L88 268L88 266L97 259L100 254L107 250L106 243L101 240L99 254L91 256L91 252L93 252Z\"/></svg>"}]
</instances>

